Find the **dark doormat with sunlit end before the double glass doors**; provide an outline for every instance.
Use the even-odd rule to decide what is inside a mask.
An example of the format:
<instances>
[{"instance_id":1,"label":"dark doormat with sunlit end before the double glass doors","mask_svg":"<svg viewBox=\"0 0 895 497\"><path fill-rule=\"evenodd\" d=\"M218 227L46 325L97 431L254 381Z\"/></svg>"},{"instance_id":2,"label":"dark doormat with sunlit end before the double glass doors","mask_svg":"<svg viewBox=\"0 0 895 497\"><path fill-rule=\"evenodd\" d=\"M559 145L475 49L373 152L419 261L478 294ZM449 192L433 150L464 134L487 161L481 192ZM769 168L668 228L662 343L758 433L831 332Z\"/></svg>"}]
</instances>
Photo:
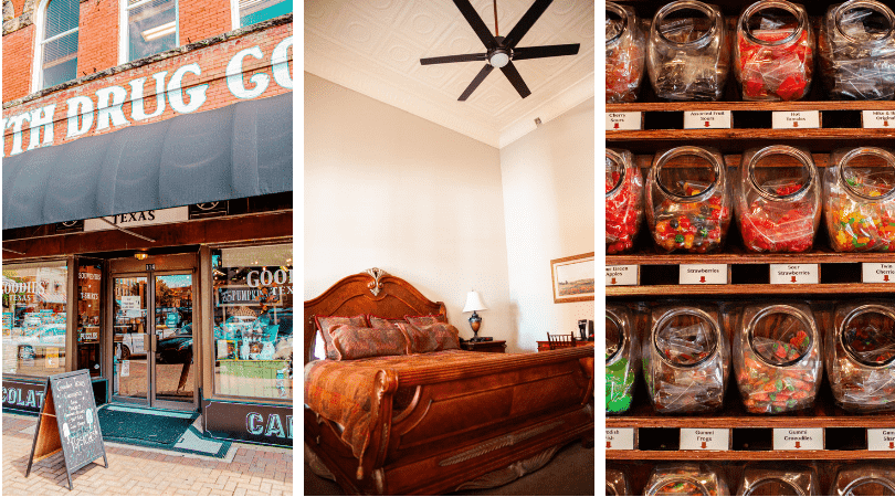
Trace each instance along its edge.
<instances>
[{"instance_id":1,"label":"dark doormat with sunlit end before the double glass doors","mask_svg":"<svg viewBox=\"0 0 895 497\"><path fill-rule=\"evenodd\" d=\"M104 405L97 410L103 440L223 458L230 442L208 438L192 426L196 412Z\"/></svg>"}]
</instances>

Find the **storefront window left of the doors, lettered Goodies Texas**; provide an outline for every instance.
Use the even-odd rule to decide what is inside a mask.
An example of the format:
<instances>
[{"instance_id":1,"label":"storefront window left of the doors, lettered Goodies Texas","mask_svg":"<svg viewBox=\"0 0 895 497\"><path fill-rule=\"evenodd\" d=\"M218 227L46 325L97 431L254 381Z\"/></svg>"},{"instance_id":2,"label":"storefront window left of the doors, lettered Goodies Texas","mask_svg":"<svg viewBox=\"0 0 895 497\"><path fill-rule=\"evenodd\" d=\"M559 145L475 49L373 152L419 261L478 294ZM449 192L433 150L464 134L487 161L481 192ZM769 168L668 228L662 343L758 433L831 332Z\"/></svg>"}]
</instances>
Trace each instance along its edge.
<instances>
[{"instance_id":1,"label":"storefront window left of the doors, lettered Goodies Texas","mask_svg":"<svg viewBox=\"0 0 895 497\"><path fill-rule=\"evenodd\" d=\"M64 262L3 266L3 373L65 371Z\"/></svg>"}]
</instances>

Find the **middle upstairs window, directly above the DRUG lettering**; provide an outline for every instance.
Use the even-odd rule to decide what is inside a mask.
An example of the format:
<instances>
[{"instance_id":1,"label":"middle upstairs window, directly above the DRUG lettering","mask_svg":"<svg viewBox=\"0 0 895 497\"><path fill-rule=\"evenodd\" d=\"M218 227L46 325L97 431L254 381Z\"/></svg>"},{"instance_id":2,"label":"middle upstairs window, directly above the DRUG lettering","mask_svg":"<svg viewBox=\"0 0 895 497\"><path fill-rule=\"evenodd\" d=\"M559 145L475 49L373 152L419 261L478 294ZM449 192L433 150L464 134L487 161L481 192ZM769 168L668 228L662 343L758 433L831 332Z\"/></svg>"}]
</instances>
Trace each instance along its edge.
<instances>
[{"instance_id":1,"label":"middle upstairs window, directly above the DRUG lettering","mask_svg":"<svg viewBox=\"0 0 895 497\"><path fill-rule=\"evenodd\" d=\"M126 0L127 52L124 62L175 49L178 43L177 0Z\"/></svg>"}]
</instances>

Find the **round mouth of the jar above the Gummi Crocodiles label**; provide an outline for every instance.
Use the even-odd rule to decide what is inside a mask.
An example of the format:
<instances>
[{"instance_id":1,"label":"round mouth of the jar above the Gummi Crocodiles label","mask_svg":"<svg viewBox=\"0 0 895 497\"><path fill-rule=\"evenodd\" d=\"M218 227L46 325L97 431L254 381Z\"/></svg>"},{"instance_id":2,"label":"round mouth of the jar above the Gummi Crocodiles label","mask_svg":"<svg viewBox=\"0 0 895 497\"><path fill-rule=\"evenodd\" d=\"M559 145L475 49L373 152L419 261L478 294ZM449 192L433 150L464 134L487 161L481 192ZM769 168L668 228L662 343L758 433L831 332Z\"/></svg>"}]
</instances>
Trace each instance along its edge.
<instances>
[{"instance_id":1,"label":"round mouth of the jar above the Gummi Crocodiles label","mask_svg":"<svg viewBox=\"0 0 895 497\"><path fill-rule=\"evenodd\" d=\"M746 326L749 347L770 366L788 367L811 351L817 328L801 309L771 305L759 310Z\"/></svg>"}]
</instances>

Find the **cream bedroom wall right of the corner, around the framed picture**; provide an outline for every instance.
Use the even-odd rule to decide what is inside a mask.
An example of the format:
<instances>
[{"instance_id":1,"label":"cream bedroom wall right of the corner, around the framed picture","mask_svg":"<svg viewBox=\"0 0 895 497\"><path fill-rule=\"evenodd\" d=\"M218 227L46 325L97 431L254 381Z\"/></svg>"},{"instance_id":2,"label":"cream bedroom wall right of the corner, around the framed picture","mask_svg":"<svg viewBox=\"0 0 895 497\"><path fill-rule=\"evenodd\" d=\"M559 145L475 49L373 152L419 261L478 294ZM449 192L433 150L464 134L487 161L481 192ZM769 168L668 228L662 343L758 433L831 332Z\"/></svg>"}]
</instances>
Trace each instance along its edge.
<instances>
[{"instance_id":1,"label":"cream bedroom wall right of the corner, around the framed picture","mask_svg":"<svg viewBox=\"0 0 895 497\"><path fill-rule=\"evenodd\" d=\"M518 349L578 330L593 302L554 304L550 260L594 252L593 98L501 149L510 318Z\"/></svg>"}]
</instances>

